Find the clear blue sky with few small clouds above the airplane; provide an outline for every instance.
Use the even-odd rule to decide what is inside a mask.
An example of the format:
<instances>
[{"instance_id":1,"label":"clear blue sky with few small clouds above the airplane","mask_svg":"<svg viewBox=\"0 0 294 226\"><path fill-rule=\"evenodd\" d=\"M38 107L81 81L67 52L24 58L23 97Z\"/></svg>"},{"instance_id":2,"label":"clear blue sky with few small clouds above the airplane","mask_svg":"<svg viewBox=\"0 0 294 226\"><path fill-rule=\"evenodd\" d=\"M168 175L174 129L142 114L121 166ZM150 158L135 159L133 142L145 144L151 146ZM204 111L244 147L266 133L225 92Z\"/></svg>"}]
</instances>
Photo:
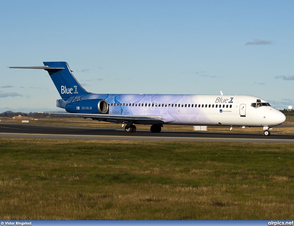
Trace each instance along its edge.
<instances>
[{"instance_id":1,"label":"clear blue sky with few small clouds above the airplane","mask_svg":"<svg viewBox=\"0 0 294 226\"><path fill-rule=\"evenodd\" d=\"M247 94L294 105L294 1L0 1L0 112L58 111L44 70L94 93Z\"/></svg>"}]
</instances>

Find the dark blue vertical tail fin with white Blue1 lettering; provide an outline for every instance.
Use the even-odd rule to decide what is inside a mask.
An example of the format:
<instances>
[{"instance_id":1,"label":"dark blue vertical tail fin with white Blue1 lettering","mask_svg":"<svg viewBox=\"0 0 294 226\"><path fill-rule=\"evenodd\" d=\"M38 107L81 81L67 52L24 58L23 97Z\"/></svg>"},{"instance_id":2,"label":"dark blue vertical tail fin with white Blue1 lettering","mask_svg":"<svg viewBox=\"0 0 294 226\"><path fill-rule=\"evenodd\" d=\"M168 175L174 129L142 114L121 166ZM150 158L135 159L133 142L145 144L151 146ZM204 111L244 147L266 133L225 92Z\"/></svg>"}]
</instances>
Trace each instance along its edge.
<instances>
[{"instance_id":1,"label":"dark blue vertical tail fin with white Blue1 lettering","mask_svg":"<svg viewBox=\"0 0 294 226\"><path fill-rule=\"evenodd\" d=\"M63 70L45 69L48 71L61 98L91 94L76 80L66 62L43 62L45 66L62 67Z\"/></svg>"}]
</instances>

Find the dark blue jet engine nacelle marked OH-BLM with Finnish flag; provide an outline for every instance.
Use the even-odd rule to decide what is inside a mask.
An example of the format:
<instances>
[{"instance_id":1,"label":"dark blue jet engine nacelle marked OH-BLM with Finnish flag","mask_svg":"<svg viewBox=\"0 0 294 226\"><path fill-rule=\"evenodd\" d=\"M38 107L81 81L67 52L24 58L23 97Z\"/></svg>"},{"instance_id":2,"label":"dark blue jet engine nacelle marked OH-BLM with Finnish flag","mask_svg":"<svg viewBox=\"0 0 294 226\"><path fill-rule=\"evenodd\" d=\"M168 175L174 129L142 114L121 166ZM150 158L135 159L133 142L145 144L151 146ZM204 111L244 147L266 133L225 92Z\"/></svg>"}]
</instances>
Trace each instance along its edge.
<instances>
[{"instance_id":1,"label":"dark blue jet engine nacelle marked OH-BLM with Finnish flag","mask_svg":"<svg viewBox=\"0 0 294 226\"><path fill-rule=\"evenodd\" d=\"M70 113L107 114L108 104L103 99L81 100L66 104L65 110Z\"/></svg>"}]
</instances>

